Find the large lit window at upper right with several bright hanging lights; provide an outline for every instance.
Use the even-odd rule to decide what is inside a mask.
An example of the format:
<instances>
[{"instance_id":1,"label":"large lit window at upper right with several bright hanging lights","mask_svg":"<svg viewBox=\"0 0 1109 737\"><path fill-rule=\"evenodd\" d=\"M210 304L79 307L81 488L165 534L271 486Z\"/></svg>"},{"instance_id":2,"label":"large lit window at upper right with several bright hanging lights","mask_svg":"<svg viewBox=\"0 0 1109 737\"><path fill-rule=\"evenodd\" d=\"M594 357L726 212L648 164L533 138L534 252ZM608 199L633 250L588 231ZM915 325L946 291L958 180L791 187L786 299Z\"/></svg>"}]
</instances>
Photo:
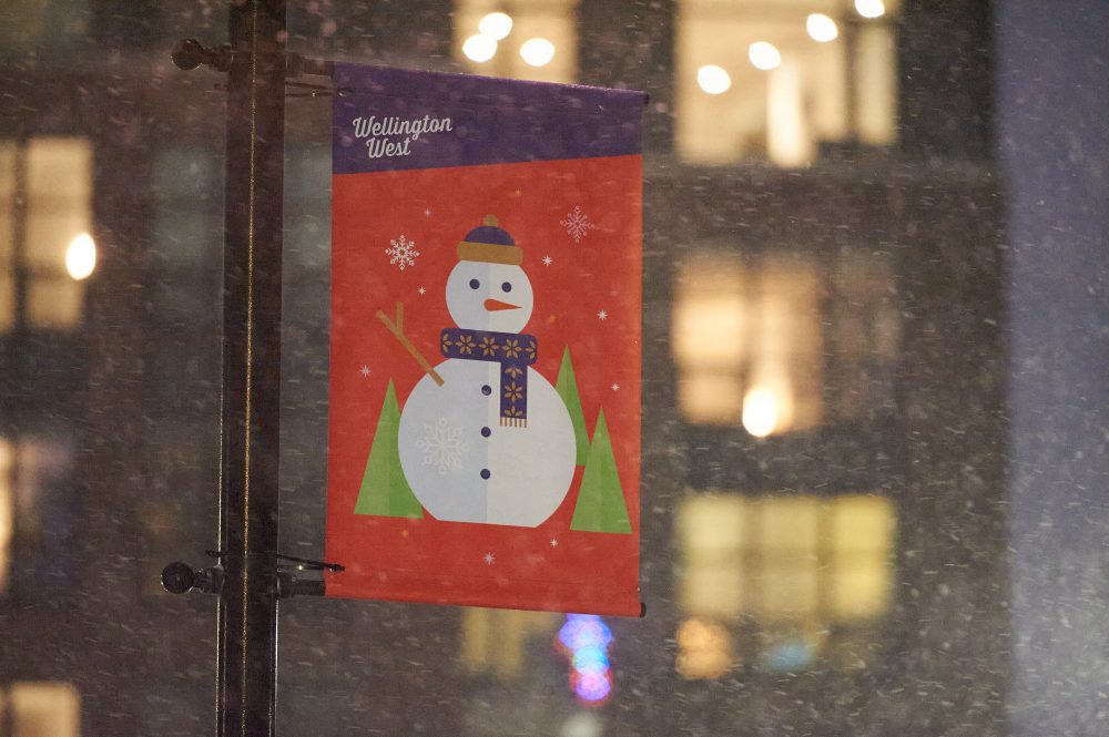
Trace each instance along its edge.
<instances>
[{"instance_id":1,"label":"large lit window at upper right with several bright hanging lights","mask_svg":"<svg viewBox=\"0 0 1109 737\"><path fill-rule=\"evenodd\" d=\"M679 153L795 167L815 161L822 144L892 143L898 3L856 4L680 0ZM706 68L729 85L706 88Z\"/></svg>"}]
</instances>

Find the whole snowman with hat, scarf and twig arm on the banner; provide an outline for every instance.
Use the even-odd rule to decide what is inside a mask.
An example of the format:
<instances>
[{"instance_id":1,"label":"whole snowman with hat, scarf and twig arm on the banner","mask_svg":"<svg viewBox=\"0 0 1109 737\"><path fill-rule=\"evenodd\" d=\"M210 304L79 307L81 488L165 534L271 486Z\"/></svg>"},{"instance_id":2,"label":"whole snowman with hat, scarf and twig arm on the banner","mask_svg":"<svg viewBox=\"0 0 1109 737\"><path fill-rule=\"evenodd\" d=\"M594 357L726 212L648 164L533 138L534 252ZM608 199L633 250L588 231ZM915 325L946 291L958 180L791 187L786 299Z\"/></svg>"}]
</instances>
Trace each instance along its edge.
<instances>
[{"instance_id":1,"label":"whole snowman with hat, scarf and twig arm on the banner","mask_svg":"<svg viewBox=\"0 0 1109 737\"><path fill-rule=\"evenodd\" d=\"M535 296L523 249L487 215L457 246L446 300L455 327L439 335L436 366L378 315L425 376L400 413L400 467L440 521L535 528L566 499L574 430L554 387L531 368L539 342L522 332Z\"/></svg>"}]
</instances>

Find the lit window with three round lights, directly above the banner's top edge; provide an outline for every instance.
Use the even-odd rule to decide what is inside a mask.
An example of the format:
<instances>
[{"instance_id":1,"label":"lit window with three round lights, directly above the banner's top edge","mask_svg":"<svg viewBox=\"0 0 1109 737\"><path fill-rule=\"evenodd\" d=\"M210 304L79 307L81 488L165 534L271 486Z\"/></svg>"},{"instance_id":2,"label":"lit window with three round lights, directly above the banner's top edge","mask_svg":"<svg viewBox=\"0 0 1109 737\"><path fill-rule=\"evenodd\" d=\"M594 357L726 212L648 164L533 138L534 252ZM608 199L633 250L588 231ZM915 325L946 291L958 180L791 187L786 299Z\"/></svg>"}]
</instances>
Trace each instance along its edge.
<instances>
[{"instance_id":1,"label":"lit window with three round lights, directly above the banner's top edge","mask_svg":"<svg viewBox=\"0 0 1109 737\"><path fill-rule=\"evenodd\" d=\"M456 0L455 57L476 74L572 82L578 0Z\"/></svg>"}]
</instances>

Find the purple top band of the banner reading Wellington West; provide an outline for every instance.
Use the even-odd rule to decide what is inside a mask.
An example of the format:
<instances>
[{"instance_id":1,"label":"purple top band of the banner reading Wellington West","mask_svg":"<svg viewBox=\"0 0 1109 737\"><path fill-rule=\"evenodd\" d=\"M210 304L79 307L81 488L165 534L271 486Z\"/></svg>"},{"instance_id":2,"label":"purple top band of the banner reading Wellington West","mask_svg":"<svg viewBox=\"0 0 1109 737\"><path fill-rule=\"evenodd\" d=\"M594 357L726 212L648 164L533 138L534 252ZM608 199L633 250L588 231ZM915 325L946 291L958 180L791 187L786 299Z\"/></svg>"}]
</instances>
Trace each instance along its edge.
<instances>
[{"instance_id":1,"label":"purple top band of the banner reading Wellington West","mask_svg":"<svg viewBox=\"0 0 1109 737\"><path fill-rule=\"evenodd\" d=\"M334 82L335 174L641 153L642 92L344 63Z\"/></svg>"}]
</instances>

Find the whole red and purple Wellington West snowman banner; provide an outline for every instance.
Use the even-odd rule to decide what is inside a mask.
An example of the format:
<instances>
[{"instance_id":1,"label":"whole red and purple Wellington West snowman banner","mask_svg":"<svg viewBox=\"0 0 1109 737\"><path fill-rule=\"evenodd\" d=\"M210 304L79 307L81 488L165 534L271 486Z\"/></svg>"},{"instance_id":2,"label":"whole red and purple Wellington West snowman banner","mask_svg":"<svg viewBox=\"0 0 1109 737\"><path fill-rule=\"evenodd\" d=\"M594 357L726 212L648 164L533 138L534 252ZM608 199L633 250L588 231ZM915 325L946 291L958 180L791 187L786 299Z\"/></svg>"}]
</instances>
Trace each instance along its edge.
<instances>
[{"instance_id":1,"label":"whole red and purple Wellington West snowman banner","mask_svg":"<svg viewBox=\"0 0 1109 737\"><path fill-rule=\"evenodd\" d=\"M335 66L327 595L639 615L644 95Z\"/></svg>"}]
</instances>

